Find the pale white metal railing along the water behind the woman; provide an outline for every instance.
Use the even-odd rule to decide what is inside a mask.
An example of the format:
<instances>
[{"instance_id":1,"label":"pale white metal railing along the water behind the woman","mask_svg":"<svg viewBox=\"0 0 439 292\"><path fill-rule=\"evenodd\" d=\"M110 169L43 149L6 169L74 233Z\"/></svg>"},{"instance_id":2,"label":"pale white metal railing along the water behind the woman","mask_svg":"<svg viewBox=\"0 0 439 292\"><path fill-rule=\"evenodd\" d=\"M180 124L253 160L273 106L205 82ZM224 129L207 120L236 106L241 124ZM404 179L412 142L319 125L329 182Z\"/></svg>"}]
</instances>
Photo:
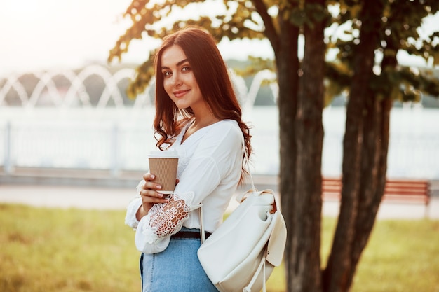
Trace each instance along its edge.
<instances>
[{"instance_id":1,"label":"pale white metal railing along the water behind the woman","mask_svg":"<svg viewBox=\"0 0 439 292\"><path fill-rule=\"evenodd\" d=\"M278 174L276 109L259 110L271 124L259 121L252 129L255 174ZM271 117L271 116L273 117ZM342 165L342 129L325 128L323 174L338 176ZM269 141L269 143L267 143ZM146 170L147 155L156 141L149 118L143 125L114 121L85 123L0 123L0 166L13 174L15 167L58 169ZM435 132L393 132L388 176L439 179L439 136Z\"/></svg>"}]
</instances>

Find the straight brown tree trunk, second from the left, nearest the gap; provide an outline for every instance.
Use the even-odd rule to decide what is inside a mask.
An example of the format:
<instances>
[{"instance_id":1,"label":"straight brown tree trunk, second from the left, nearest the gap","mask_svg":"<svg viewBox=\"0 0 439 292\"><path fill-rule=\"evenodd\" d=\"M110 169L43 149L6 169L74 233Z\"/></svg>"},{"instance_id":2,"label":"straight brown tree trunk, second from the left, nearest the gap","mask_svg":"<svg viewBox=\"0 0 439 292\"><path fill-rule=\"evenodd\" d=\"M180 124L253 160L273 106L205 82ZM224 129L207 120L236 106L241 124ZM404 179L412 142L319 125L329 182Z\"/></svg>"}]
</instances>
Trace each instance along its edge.
<instances>
[{"instance_id":1,"label":"straight brown tree trunk, second from the left, nearest the gap","mask_svg":"<svg viewBox=\"0 0 439 292\"><path fill-rule=\"evenodd\" d=\"M307 1L320 4L323 0ZM288 291L321 291L321 158L323 148L323 78L325 43L323 22L304 27L305 47L300 69L296 118L296 179L293 195L292 265L288 270Z\"/></svg>"}]
</instances>

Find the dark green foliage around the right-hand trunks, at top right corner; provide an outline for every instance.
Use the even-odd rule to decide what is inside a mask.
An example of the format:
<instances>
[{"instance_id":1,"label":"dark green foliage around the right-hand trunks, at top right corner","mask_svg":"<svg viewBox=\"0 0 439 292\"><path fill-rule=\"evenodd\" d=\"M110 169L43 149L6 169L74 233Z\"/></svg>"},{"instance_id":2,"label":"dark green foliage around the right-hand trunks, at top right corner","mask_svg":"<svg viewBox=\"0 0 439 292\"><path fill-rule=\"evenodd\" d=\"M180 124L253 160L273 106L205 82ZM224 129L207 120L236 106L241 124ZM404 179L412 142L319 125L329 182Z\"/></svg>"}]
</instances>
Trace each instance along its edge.
<instances>
[{"instance_id":1,"label":"dark green foliage around the right-hand trunks, at top right corner","mask_svg":"<svg viewBox=\"0 0 439 292\"><path fill-rule=\"evenodd\" d=\"M376 43L376 54L384 58L396 58L396 53L405 50L410 55L423 57L426 61L439 64L439 32L422 39L418 29L427 15L438 12L437 1L384 1L378 29L380 38ZM359 31L363 25L359 20L361 10L360 1L341 1L338 8L340 13L335 16L334 23L339 26L348 26L342 39L331 37L328 48L335 48L337 66L329 64L327 71L328 85L326 95L328 99L349 87L349 78L353 74L353 64L356 51L361 49ZM400 102L419 102L422 95L439 97L438 77L431 71L414 70L408 67L384 68L377 59L375 72L370 88L381 98L391 98ZM339 72L337 72L339 71ZM346 77L346 78L344 78ZM347 81L347 83L346 83Z\"/></svg>"}]
</instances>

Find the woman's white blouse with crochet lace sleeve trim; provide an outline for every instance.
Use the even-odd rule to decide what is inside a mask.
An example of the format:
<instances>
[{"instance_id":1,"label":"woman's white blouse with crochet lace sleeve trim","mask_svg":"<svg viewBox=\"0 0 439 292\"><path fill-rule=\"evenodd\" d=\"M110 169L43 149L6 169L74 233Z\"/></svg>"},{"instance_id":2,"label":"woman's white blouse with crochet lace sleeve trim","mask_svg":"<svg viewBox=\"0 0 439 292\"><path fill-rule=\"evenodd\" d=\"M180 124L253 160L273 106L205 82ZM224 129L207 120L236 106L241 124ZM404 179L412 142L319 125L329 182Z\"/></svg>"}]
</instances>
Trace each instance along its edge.
<instances>
[{"instance_id":1,"label":"woman's white blouse with crochet lace sleeve trim","mask_svg":"<svg viewBox=\"0 0 439 292\"><path fill-rule=\"evenodd\" d=\"M135 244L144 253L166 249L170 235L182 226L200 228L201 203L205 231L215 231L241 177L243 134L235 120L221 120L203 127L182 143L184 132L186 128L170 147L179 156L179 183L170 198L175 208L167 207L170 203L155 204L147 216L137 221L135 214L142 204L141 198L136 197L128 204L125 222L136 229ZM175 218L179 218L176 223Z\"/></svg>"}]
</instances>

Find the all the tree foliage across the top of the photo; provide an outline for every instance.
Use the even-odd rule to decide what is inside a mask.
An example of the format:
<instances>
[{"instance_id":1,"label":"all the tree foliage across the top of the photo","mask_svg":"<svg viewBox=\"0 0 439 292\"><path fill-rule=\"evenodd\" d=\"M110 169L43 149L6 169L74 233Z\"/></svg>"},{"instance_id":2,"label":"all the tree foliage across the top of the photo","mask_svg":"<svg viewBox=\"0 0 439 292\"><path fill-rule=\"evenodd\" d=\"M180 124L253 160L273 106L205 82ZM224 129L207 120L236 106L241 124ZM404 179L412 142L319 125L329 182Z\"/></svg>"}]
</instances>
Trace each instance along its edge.
<instances>
[{"instance_id":1,"label":"all the tree foliage across the top of the photo","mask_svg":"<svg viewBox=\"0 0 439 292\"><path fill-rule=\"evenodd\" d=\"M337 61L327 64L327 83L325 99L326 104L330 100L344 92L350 85L350 76L353 72L353 56L360 48L359 31L362 23L358 20L363 2L358 0L327 1L328 5L338 9L338 13L332 15L327 9L304 1L146 1L134 0L124 13L124 17L130 18L133 23L126 33L116 42L116 46L110 51L109 61L121 59L123 53L128 51L133 39L162 39L167 32L179 29L185 25L200 25L208 30L220 41L223 38L234 39L263 39L273 33L278 33L276 18L289 20L293 25L302 27L313 26L313 22L327 20L330 25L347 27L344 29L344 37L329 36L327 48L338 51ZM438 1L385 1L384 11L379 29L381 34L379 43L376 44L377 53L383 55L396 55L398 50L405 50L410 55L432 60L433 64L439 64L439 32L421 39L418 28L427 15L439 10ZM217 9L215 16L193 15L193 19L176 17L193 6L208 5ZM199 9L201 10L201 9ZM169 23L170 19L175 19ZM347 26L346 26L347 25ZM270 39L270 38L269 38ZM272 41L273 43L273 41ZM273 46L276 49L276 46ZM153 58L155 51L149 52L149 57L137 68L135 80L128 86L128 97L135 98L143 92L154 78ZM252 64L245 71L238 74L244 76L255 74L262 69L274 69L272 60L257 60L250 58ZM337 65L335 65L337 64ZM377 66L380 64L377 62ZM407 69L397 67L395 72L389 72L384 68L381 73L373 78L370 85L372 90L378 90L381 97L391 97L394 100L417 101L422 94L438 97L437 78L431 78L431 74L407 74ZM390 82L390 83L389 83ZM390 85L390 88L389 88Z\"/></svg>"}]
</instances>

